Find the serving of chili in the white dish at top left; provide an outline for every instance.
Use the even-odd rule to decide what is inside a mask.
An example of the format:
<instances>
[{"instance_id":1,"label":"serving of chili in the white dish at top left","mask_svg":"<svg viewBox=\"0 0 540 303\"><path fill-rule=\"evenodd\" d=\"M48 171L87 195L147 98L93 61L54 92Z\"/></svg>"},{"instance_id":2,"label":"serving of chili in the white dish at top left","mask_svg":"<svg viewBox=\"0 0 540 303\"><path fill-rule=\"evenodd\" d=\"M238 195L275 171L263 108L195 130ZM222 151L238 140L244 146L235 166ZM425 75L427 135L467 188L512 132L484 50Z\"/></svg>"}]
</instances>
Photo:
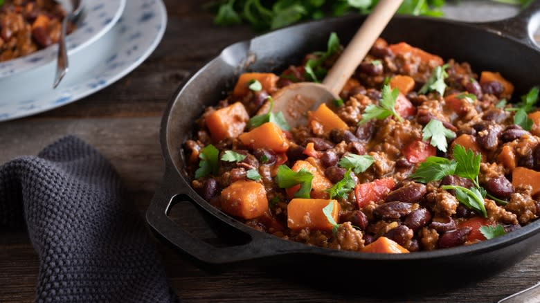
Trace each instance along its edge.
<instances>
[{"instance_id":1,"label":"serving of chili in the white dish at top left","mask_svg":"<svg viewBox=\"0 0 540 303\"><path fill-rule=\"evenodd\" d=\"M0 1L0 62L57 43L64 17L65 10L53 0ZM70 22L67 33L74 29Z\"/></svg>"}]
</instances>

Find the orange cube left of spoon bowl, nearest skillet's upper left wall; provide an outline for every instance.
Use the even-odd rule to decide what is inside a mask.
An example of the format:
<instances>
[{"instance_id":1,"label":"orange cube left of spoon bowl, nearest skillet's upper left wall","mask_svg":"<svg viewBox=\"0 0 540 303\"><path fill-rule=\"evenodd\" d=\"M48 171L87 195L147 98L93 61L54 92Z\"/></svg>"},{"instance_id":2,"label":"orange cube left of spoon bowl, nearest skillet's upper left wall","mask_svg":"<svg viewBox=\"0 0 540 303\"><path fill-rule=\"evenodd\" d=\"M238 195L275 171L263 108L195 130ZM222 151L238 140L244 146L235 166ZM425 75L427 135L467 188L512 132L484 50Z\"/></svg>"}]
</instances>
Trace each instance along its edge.
<instances>
[{"instance_id":1,"label":"orange cube left of spoon bowl, nearest skillet's upper left wall","mask_svg":"<svg viewBox=\"0 0 540 303\"><path fill-rule=\"evenodd\" d=\"M229 105L217 111L213 111L205 118L206 127L214 142L226 138L236 138L246 127L249 114L240 102Z\"/></svg>"}]
</instances>

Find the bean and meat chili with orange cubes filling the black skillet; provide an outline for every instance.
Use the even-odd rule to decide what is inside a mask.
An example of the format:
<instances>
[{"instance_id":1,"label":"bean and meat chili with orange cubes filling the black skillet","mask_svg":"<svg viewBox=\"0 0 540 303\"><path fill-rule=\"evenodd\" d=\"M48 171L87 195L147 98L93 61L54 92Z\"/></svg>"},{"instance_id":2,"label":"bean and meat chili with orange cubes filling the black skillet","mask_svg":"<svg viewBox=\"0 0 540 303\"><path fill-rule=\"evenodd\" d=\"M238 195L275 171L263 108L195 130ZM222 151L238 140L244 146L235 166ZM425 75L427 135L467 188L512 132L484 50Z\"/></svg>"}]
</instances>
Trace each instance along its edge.
<instances>
[{"instance_id":1,"label":"bean and meat chili with orange cubes filling the black skillet","mask_svg":"<svg viewBox=\"0 0 540 303\"><path fill-rule=\"evenodd\" d=\"M476 244L540 215L539 88L378 39L340 100L291 128L273 93L341 53L244 73L184 143L192 187L246 225L312 246L408 253Z\"/></svg>"}]
</instances>

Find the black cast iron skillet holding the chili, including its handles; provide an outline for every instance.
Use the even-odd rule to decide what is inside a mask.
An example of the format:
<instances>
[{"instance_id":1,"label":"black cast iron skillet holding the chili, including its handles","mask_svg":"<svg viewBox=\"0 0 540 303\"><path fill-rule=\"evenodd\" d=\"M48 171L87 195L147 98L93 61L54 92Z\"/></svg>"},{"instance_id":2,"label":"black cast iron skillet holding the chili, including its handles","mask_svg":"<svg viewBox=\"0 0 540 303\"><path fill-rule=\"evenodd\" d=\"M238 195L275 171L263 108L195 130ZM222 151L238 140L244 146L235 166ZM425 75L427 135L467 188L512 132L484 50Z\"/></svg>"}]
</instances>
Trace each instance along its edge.
<instances>
[{"instance_id":1,"label":"black cast iron skillet holding the chili, including its handles","mask_svg":"<svg viewBox=\"0 0 540 303\"><path fill-rule=\"evenodd\" d=\"M530 255L540 244L540 220L520 230L471 246L414 252L402 255L368 254L319 248L274 237L245 226L217 210L190 187L184 169L182 143L190 138L195 120L204 107L215 104L231 89L239 73L282 71L303 55L325 49L327 37L338 33L347 43L363 21L353 15L300 24L250 41L238 42L201 68L170 100L161 123L161 148L165 176L146 213L156 235L202 264L221 266L249 262L307 264L325 275L361 270L371 277L390 279L393 273L413 273L409 282L443 282L491 275ZM532 42L532 30L540 24L540 1L518 16L485 24L464 24L442 19L395 17L382 37L405 41L445 59L469 62L474 71L499 71L516 86L519 96L540 84L540 52ZM246 67L249 58L255 61ZM174 203L189 201L209 217L209 228L241 239L235 246L217 248L180 228L169 217ZM309 266L311 264L311 266ZM347 270L344 270L347 268ZM289 270L289 267L287 267ZM380 280L379 280L380 281Z\"/></svg>"}]
</instances>

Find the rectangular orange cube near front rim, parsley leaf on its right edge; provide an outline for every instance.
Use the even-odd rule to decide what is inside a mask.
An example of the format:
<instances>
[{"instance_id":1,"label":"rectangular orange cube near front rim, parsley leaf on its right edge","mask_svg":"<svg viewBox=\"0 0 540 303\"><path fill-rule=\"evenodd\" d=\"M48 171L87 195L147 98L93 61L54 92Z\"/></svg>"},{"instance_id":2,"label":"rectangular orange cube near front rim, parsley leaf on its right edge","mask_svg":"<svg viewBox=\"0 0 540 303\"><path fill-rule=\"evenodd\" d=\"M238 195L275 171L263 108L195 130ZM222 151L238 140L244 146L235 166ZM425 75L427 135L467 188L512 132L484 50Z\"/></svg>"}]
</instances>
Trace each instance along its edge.
<instances>
[{"instance_id":1,"label":"rectangular orange cube near front rim, parsley leaf on its right edge","mask_svg":"<svg viewBox=\"0 0 540 303\"><path fill-rule=\"evenodd\" d=\"M338 221L340 206L336 200L325 199L292 199L287 205L287 226L291 230L310 228L313 230L331 231L334 226L323 213L329 203L334 203L332 218Z\"/></svg>"}]
</instances>

